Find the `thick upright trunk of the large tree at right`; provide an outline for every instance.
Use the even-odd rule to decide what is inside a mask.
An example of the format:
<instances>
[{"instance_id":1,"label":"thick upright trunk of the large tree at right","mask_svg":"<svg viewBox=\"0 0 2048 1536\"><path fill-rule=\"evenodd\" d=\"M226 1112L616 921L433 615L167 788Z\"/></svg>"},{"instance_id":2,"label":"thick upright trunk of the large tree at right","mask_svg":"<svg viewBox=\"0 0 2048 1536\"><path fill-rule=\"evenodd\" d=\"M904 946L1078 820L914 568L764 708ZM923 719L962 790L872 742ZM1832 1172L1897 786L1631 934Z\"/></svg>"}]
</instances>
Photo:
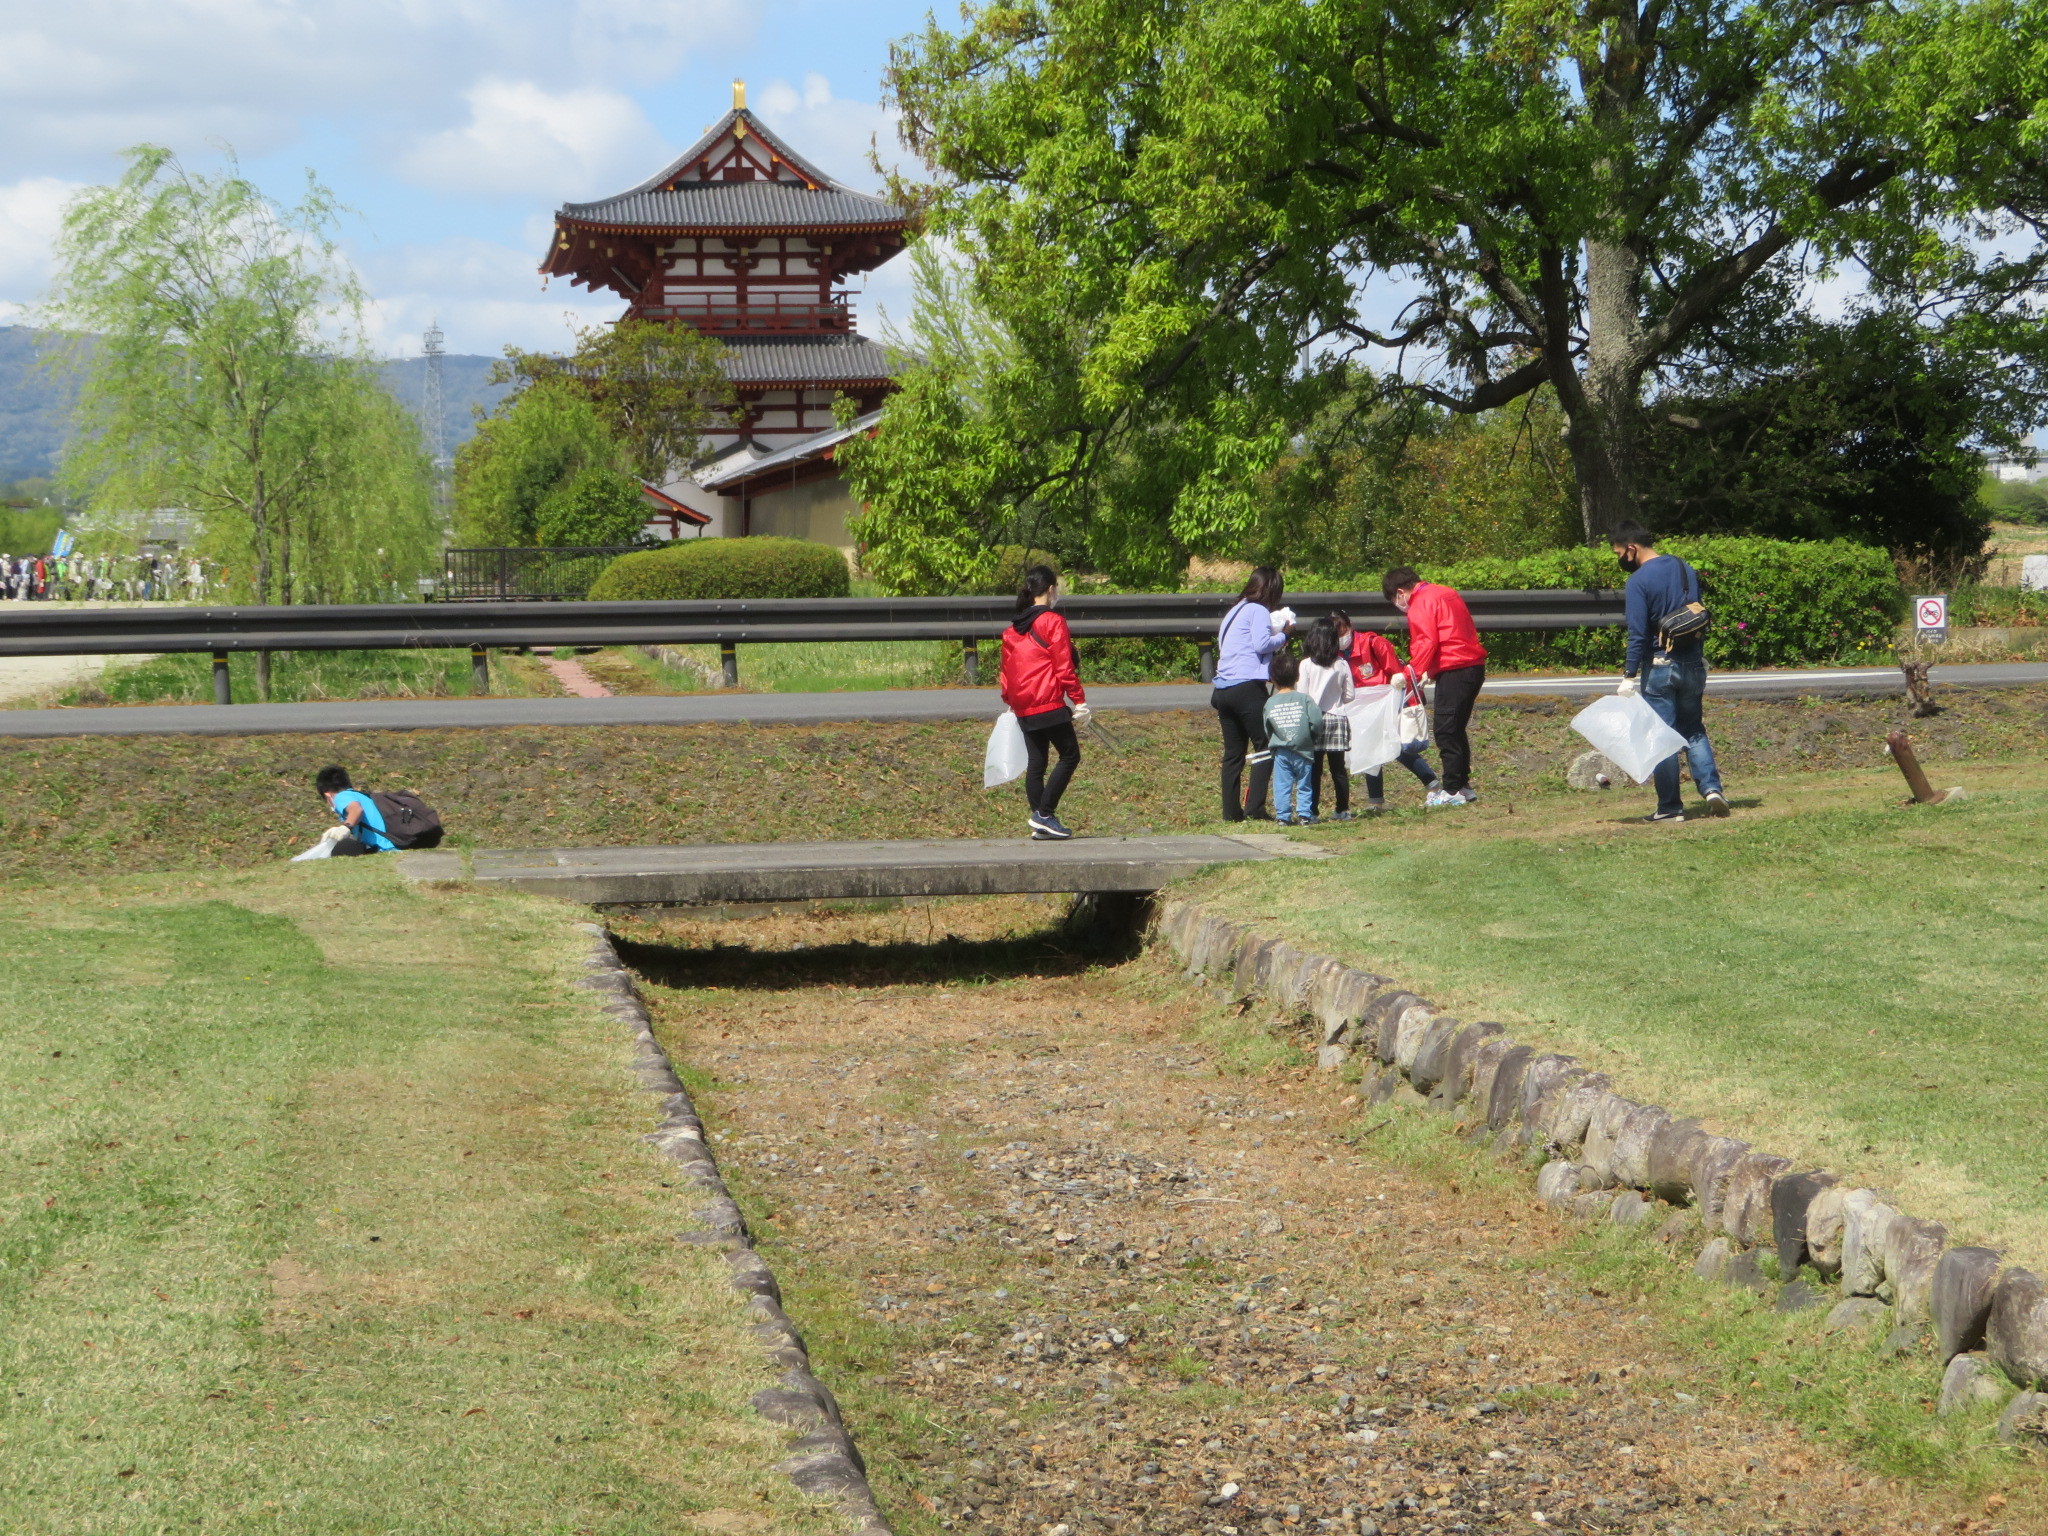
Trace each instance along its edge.
<instances>
[{"instance_id":1,"label":"thick upright trunk of the large tree at right","mask_svg":"<svg viewBox=\"0 0 2048 1536\"><path fill-rule=\"evenodd\" d=\"M1638 516L1636 428L1642 365L1642 260L1626 246L1585 242L1585 369L1571 414L1571 465L1579 477L1579 516L1587 543Z\"/></svg>"}]
</instances>

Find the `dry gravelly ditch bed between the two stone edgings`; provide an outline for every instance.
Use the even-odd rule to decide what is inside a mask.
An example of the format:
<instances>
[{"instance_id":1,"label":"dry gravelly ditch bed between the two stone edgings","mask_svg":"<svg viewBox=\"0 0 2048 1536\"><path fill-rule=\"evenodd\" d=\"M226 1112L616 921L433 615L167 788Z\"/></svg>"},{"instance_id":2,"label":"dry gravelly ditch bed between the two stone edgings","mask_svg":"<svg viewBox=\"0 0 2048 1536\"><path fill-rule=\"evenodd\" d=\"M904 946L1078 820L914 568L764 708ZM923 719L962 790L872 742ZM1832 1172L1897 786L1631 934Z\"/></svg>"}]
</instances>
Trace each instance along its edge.
<instances>
[{"instance_id":1,"label":"dry gravelly ditch bed between the two stone edgings","mask_svg":"<svg viewBox=\"0 0 2048 1536\"><path fill-rule=\"evenodd\" d=\"M1704 1384L1526 1184L1051 915L621 922L901 1532L2025 1528Z\"/></svg>"}]
</instances>

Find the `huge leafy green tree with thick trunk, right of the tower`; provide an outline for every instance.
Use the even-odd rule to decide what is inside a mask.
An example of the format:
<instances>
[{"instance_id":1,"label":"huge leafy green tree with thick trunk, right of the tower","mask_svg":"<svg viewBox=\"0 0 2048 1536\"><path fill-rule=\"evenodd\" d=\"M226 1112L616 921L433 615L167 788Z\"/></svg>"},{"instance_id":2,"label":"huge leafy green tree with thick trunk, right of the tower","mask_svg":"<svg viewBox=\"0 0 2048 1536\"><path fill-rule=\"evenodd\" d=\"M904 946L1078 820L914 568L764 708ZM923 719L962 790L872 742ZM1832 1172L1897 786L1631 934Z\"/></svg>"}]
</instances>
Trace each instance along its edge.
<instances>
[{"instance_id":1,"label":"huge leafy green tree with thick trunk, right of the tower","mask_svg":"<svg viewBox=\"0 0 2048 1536\"><path fill-rule=\"evenodd\" d=\"M1458 414L1546 389L1595 535L1647 401L1757 307L1855 279L2023 350L2042 35L2048 0L1022 0L889 84L934 170L899 193L1018 348L997 498L1159 573L1243 539L1358 362Z\"/></svg>"}]
</instances>

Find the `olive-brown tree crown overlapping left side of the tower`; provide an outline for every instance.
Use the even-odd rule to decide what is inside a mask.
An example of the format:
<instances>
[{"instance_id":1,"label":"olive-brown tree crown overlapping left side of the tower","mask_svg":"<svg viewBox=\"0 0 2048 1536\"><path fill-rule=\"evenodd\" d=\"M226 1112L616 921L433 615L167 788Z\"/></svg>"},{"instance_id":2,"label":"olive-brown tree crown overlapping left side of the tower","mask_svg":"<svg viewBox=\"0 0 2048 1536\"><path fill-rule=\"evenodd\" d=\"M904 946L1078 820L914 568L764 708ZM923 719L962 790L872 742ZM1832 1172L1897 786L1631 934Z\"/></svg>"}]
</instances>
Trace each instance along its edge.
<instances>
[{"instance_id":1,"label":"olive-brown tree crown overlapping left side of the tower","mask_svg":"<svg viewBox=\"0 0 2048 1536\"><path fill-rule=\"evenodd\" d=\"M508 346L489 383L575 389L616 444L621 467L659 485L696 459L705 428L729 418L723 358L723 342L690 326L621 319L582 330L569 356Z\"/></svg>"}]
</instances>

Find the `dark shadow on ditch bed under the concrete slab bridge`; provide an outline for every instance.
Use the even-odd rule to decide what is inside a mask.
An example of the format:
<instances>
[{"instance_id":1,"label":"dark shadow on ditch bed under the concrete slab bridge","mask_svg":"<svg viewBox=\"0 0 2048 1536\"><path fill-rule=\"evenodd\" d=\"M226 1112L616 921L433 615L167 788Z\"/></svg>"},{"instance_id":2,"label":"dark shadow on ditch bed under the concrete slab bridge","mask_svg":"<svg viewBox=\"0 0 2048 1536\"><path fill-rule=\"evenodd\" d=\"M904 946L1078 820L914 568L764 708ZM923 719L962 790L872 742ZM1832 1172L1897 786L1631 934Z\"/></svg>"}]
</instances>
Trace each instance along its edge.
<instances>
[{"instance_id":1,"label":"dark shadow on ditch bed under the concrete slab bridge","mask_svg":"<svg viewBox=\"0 0 2048 1536\"><path fill-rule=\"evenodd\" d=\"M1149 903L1081 899L1065 922L1034 934L782 948L752 944L645 944L612 934L618 958L657 987L901 987L1063 977L1137 956Z\"/></svg>"}]
</instances>

